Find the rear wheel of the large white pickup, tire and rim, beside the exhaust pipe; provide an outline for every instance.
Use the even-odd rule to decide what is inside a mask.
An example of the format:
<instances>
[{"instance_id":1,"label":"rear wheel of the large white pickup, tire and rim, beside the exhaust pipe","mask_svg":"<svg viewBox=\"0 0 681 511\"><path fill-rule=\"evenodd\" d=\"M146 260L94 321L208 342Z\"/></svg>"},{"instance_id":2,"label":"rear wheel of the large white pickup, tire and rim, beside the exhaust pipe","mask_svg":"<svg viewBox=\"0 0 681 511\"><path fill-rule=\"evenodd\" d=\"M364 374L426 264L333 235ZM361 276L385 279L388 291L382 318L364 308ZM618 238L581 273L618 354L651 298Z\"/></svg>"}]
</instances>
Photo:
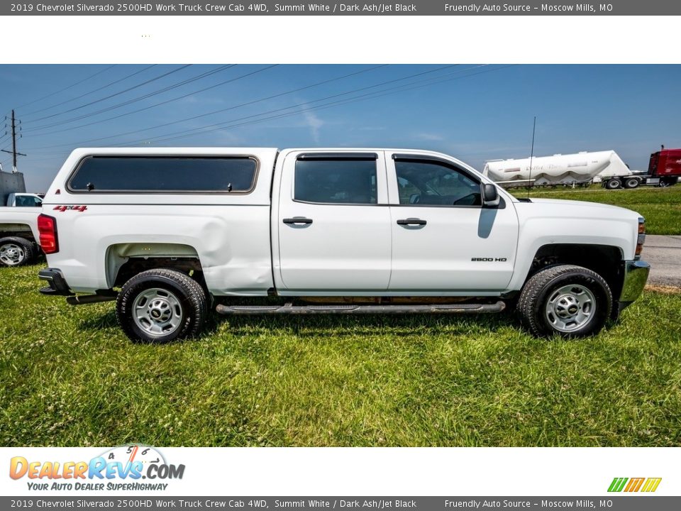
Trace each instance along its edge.
<instances>
[{"instance_id":1,"label":"rear wheel of the large white pickup, tire and rim, beside the exhaust pipe","mask_svg":"<svg viewBox=\"0 0 681 511\"><path fill-rule=\"evenodd\" d=\"M153 317L153 314L157 315ZM169 314L167 328L163 314ZM140 315L145 317L140 319ZM118 324L132 341L165 343L194 336L207 315L208 302L203 287L175 270L138 273L123 285L116 300Z\"/></svg>"}]
</instances>

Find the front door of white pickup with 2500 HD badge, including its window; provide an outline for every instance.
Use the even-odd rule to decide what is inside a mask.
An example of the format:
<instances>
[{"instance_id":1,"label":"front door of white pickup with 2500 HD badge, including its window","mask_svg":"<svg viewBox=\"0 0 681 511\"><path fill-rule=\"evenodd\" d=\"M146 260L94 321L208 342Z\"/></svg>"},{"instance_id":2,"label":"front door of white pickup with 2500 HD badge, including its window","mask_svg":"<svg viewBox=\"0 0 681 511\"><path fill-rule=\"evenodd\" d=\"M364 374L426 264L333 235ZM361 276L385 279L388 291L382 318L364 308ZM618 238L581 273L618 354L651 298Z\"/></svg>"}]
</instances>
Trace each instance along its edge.
<instances>
[{"instance_id":1,"label":"front door of white pickup with 2500 HD badge, including its window","mask_svg":"<svg viewBox=\"0 0 681 511\"><path fill-rule=\"evenodd\" d=\"M472 172L453 162L425 158L421 162L427 164L416 165L409 158L416 157L409 155L404 164L399 158L386 159L392 204L389 290L505 290L518 238L513 205L482 207Z\"/></svg>"}]
</instances>

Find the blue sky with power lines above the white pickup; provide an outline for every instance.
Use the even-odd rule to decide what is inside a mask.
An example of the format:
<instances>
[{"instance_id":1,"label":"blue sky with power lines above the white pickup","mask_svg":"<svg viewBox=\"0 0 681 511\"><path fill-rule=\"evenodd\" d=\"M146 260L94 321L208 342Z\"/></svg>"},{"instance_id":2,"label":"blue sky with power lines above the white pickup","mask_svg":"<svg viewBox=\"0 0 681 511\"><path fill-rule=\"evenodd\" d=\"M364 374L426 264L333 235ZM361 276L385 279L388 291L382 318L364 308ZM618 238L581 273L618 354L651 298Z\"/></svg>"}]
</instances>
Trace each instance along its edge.
<instances>
[{"instance_id":1,"label":"blue sky with power lines above the white pickup","mask_svg":"<svg viewBox=\"0 0 681 511\"><path fill-rule=\"evenodd\" d=\"M533 116L535 155L645 170L681 146L680 83L681 65L0 65L0 116L38 192L84 146L423 148L482 169L529 155Z\"/></svg>"}]
</instances>

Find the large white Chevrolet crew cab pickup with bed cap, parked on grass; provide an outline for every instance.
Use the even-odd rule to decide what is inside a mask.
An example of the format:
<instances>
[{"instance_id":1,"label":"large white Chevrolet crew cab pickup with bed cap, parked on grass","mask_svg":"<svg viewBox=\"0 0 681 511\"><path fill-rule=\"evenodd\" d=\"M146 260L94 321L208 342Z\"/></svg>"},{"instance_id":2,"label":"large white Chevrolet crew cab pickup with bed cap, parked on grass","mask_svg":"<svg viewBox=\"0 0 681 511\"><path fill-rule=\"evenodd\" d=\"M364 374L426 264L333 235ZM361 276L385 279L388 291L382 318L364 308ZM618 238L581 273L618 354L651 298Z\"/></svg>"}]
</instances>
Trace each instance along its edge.
<instances>
[{"instance_id":1,"label":"large white Chevrolet crew cab pickup with bed cap, parked on grass","mask_svg":"<svg viewBox=\"0 0 681 511\"><path fill-rule=\"evenodd\" d=\"M506 304L537 336L580 337L641 294L644 226L618 207L516 199L425 150L77 149L38 220L41 292L116 300L123 331L142 341L196 334L211 309Z\"/></svg>"}]
</instances>

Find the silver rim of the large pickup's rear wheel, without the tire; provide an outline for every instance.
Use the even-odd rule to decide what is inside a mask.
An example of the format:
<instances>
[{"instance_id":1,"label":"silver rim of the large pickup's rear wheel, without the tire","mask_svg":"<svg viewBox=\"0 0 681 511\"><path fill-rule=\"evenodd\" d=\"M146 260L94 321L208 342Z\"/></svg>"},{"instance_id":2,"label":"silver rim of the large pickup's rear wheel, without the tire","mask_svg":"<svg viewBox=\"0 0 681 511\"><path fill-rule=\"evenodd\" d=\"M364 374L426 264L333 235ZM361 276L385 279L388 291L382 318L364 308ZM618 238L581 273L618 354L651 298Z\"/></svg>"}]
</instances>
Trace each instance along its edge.
<instances>
[{"instance_id":1,"label":"silver rim of the large pickup's rear wheel, without the tire","mask_svg":"<svg viewBox=\"0 0 681 511\"><path fill-rule=\"evenodd\" d=\"M135 298L133 320L150 336L166 336L182 323L182 304L172 292L153 287Z\"/></svg>"}]
</instances>

